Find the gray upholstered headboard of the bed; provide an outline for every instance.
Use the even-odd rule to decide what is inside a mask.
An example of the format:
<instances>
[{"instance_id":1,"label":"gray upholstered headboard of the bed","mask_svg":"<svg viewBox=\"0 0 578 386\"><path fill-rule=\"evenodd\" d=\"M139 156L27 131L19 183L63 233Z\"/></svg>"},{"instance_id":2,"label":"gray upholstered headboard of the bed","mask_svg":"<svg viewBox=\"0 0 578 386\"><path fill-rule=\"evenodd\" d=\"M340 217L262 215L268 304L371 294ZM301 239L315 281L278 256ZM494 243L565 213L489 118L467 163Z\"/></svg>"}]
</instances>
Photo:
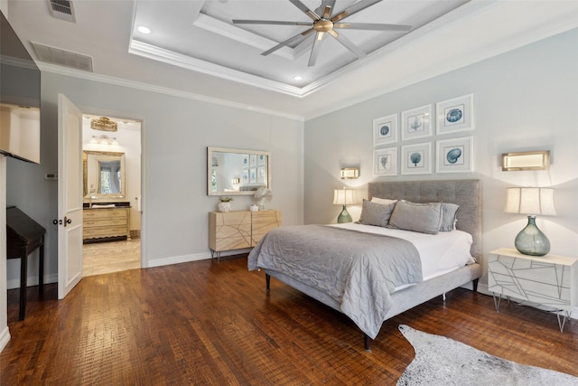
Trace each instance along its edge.
<instances>
[{"instance_id":1,"label":"gray upholstered headboard of the bed","mask_svg":"<svg viewBox=\"0 0 578 386\"><path fill-rule=\"evenodd\" d=\"M481 183L479 180L391 181L368 184L372 197L411 202L452 202L460 205L456 228L473 238L471 256L481 256Z\"/></svg>"}]
</instances>

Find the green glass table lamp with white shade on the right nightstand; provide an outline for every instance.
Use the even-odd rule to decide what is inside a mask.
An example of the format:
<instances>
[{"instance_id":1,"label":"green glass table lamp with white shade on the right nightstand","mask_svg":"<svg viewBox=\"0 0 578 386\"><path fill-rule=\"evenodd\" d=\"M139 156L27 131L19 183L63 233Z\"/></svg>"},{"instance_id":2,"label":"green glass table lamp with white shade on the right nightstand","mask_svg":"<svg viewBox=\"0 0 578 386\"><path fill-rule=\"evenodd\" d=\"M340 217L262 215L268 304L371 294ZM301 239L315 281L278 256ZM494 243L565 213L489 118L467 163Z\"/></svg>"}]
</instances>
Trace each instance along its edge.
<instances>
[{"instance_id":1,"label":"green glass table lamp with white shade on the right nightstand","mask_svg":"<svg viewBox=\"0 0 578 386\"><path fill-rule=\"evenodd\" d=\"M555 216L554 189L508 188L507 213L527 214L527 226L514 240L516 249L525 255L544 256L550 251L550 240L536 226L536 214Z\"/></svg>"}]
</instances>

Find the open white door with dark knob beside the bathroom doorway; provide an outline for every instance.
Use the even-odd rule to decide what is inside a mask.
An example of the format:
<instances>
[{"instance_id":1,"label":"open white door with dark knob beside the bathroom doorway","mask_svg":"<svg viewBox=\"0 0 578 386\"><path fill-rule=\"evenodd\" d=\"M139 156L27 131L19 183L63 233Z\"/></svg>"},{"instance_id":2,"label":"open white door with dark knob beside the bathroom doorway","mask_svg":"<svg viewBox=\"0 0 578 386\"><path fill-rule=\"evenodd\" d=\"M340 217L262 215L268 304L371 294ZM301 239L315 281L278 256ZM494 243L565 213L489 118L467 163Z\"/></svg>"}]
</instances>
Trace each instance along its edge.
<instances>
[{"instance_id":1,"label":"open white door with dark knob beside the bathroom doorway","mask_svg":"<svg viewBox=\"0 0 578 386\"><path fill-rule=\"evenodd\" d=\"M58 298L82 278L82 113L58 95Z\"/></svg>"}]
</instances>

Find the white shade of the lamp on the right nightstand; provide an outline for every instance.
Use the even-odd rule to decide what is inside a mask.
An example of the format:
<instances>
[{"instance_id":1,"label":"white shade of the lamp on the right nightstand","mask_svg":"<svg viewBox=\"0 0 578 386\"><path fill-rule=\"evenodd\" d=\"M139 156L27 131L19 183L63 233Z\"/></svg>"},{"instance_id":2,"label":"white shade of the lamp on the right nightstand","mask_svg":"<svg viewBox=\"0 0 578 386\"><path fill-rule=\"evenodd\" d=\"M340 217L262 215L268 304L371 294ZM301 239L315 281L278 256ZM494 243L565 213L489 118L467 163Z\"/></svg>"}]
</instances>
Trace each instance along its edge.
<instances>
[{"instance_id":1,"label":"white shade of the lamp on the right nightstand","mask_svg":"<svg viewBox=\"0 0 578 386\"><path fill-rule=\"evenodd\" d=\"M508 188L507 213L555 216L554 189L551 188Z\"/></svg>"}]
</instances>

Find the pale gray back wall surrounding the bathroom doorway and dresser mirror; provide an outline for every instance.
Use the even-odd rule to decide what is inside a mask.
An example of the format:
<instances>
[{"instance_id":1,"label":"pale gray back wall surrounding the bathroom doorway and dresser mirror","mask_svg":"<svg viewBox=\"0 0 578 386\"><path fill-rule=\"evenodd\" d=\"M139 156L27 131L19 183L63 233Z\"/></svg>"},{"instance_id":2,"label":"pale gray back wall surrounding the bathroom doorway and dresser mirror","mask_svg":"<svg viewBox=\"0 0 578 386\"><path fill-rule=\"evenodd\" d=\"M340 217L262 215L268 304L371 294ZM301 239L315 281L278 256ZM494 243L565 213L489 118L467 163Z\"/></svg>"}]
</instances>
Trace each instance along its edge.
<instances>
[{"instance_id":1,"label":"pale gray back wall surrounding the bathroom doorway and dresser mirror","mask_svg":"<svg viewBox=\"0 0 578 386\"><path fill-rule=\"evenodd\" d=\"M142 120L143 266L210 258L207 146L272 153L272 209L284 224L303 223L303 122L195 99L129 89L102 82L42 73L41 165L8 160L8 203L18 205L47 229L45 281L57 278L57 186L43 174L57 171L57 95L63 93L89 114ZM245 210L252 196L236 197ZM29 282L37 282L30 260ZM8 266L9 287L18 287L18 267Z\"/></svg>"}]
</instances>

